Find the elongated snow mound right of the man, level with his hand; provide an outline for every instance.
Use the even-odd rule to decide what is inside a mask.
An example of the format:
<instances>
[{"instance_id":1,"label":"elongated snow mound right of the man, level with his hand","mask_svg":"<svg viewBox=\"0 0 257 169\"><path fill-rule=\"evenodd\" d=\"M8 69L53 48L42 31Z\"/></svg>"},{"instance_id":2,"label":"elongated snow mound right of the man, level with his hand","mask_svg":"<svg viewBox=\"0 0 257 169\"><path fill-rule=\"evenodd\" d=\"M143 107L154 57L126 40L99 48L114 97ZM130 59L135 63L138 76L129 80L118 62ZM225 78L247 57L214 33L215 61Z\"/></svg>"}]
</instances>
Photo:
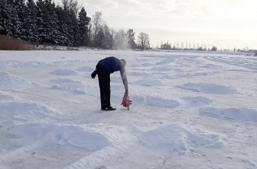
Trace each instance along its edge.
<instances>
[{"instance_id":1,"label":"elongated snow mound right of the man, level with his hand","mask_svg":"<svg viewBox=\"0 0 257 169\"><path fill-rule=\"evenodd\" d=\"M196 92L204 92L204 93L212 93L212 94L238 94L236 89L233 89L228 86L223 86L220 84L205 84L205 83L186 83L183 85L177 86L179 88L196 91Z\"/></svg>"}]
</instances>

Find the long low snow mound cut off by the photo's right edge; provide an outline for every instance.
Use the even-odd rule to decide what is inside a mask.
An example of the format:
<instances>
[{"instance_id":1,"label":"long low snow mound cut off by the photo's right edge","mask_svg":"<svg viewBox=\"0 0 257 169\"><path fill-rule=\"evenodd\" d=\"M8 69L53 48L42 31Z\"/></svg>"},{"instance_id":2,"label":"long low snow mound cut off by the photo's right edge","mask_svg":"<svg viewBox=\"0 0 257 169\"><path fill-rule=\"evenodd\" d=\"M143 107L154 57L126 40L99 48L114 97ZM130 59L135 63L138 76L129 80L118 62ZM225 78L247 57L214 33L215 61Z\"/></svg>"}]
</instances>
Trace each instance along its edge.
<instances>
[{"instance_id":1,"label":"long low snow mound cut off by the photo's right edge","mask_svg":"<svg viewBox=\"0 0 257 169\"><path fill-rule=\"evenodd\" d=\"M219 119L246 120L257 122L257 111L248 108L216 108L203 107L199 110L203 116L212 116Z\"/></svg>"}]
</instances>

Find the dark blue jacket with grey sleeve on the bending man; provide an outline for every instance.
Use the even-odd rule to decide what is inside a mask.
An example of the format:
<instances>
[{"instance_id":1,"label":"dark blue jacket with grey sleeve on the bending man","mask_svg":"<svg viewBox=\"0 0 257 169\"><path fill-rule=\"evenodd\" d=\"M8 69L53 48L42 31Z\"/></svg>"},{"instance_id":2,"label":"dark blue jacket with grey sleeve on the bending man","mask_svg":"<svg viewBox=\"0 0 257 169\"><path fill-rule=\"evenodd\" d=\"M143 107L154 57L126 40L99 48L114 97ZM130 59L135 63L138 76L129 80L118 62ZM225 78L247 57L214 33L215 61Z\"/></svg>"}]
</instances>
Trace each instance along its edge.
<instances>
[{"instance_id":1,"label":"dark blue jacket with grey sleeve on the bending man","mask_svg":"<svg viewBox=\"0 0 257 169\"><path fill-rule=\"evenodd\" d=\"M120 59L113 57L113 56L107 57L105 59L100 60L97 63L97 65L101 65L101 66L105 67L109 71L110 74L113 72L120 71L125 90L129 89L125 66L120 61Z\"/></svg>"}]
</instances>

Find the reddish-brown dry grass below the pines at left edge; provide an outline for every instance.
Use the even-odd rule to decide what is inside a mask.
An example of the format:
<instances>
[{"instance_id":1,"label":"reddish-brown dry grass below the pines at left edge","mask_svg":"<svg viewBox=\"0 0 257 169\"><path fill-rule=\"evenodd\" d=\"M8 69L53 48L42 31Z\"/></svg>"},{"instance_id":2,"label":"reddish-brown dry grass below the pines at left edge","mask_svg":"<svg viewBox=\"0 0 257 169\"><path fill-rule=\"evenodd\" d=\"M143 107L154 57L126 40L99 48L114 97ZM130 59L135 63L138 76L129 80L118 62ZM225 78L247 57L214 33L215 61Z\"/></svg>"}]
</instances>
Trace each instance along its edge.
<instances>
[{"instance_id":1,"label":"reddish-brown dry grass below the pines at left edge","mask_svg":"<svg viewBox=\"0 0 257 169\"><path fill-rule=\"evenodd\" d=\"M28 43L19 39L0 35L0 50L28 50Z\"/></svg>"}]
</instances>

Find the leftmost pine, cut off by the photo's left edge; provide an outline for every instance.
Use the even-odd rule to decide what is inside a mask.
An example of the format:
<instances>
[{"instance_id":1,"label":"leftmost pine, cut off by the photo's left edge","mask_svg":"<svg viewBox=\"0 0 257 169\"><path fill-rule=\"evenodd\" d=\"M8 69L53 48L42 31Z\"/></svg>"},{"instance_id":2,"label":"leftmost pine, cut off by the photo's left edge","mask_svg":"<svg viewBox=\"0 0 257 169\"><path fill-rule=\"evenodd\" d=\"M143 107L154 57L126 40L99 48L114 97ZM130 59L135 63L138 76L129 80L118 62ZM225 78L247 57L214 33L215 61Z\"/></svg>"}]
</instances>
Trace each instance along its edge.
<instances>
[{"instance_id":1,"label":"leftmost pine, cut off by the photo's left edge","mask_svg":"<svg viewBox=\"0 0 257 169\"><path fill-rule=\"evenodd\" d=\"M0 0L0 34L12 36L12 11L11 3Z\"/></svg>"}]
</instances>

